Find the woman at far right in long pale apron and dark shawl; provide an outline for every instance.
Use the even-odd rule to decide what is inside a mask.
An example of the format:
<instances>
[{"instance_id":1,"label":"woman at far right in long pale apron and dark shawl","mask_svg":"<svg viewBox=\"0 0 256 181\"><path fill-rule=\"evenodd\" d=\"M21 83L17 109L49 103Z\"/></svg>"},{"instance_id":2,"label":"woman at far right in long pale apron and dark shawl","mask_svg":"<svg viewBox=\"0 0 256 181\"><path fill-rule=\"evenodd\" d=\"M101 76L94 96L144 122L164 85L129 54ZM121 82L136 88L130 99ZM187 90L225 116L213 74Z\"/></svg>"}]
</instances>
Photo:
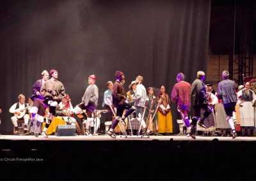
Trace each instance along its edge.
<instances>
[{"instance_id":1,"label":"woman at far right in long pale apron and dark shawl","mask_svg":"<svg viewBox=\"0 0 256 181\"><path fill-rule=\"evenodd\" d=\"M245 89L237 92L237 99L239 103L240 122L242 129L242 136L245 135L247 129L247 136L252 136L253 128L255 127L254 108L253 104L256 101L255 93L250 89L250 82L245 83Z\"/></svg>"}]
</instances>

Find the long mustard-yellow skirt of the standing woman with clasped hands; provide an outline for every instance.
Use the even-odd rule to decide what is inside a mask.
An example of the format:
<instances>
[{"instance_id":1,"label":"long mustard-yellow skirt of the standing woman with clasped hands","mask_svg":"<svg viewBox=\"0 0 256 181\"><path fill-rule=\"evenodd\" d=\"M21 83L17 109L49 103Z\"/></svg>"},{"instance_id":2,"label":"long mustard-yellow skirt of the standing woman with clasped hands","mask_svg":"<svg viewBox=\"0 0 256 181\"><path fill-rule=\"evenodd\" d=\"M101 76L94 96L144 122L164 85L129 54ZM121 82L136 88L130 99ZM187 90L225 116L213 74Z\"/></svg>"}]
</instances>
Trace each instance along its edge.
<instances>
[{"instance_id":1,"label":"long mustard-yellow skirt of the standing woman with clasped hands","mask_svg":"<svg viewBox=\"0 0 256 181\"><path fill-rule=\"evenodd\" d=\"M173 133L172 127L172 113L168 112L167 115L163 115L158 112L158 133Z\"/></svg>"}]
</instances>

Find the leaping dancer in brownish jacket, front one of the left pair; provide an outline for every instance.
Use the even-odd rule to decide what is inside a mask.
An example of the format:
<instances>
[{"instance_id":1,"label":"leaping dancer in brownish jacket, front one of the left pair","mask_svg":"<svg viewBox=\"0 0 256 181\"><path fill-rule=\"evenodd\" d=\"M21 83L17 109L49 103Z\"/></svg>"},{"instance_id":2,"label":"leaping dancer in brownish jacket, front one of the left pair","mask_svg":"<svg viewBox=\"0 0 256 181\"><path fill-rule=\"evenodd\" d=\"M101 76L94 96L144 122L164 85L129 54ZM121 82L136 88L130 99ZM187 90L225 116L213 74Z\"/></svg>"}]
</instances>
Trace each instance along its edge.
<instances>
[{"instance_id":1,"label":"leaping dancer in brownish jacket, front one of the left pair","mask_svg":"<svg viewBox=\"0 0 256 181\"><path fill-rule=\"evenodd\" d=\"M56 69L52 69L50 71L51 79L46 80L42 85L40 94L44 96L44 103L49 106L49 121L46 122L42 135L47 138L47 129L51 124L54 116L56 115L56 106L60 103L61 98L65 94L65 88L63 83L58 81L58 71Z\"/></svg>"}]
</instances>

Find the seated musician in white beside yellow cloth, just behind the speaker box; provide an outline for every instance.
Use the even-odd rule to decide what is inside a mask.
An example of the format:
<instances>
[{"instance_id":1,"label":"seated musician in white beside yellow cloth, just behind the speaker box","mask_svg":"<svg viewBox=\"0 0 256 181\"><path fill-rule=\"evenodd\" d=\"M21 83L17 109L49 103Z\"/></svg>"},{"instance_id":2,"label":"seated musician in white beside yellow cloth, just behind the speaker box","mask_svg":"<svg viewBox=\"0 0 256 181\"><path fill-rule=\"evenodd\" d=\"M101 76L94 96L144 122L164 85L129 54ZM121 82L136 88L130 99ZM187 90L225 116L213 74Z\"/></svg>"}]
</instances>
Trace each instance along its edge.
<instances>
[{"instance_id":1,"label":"seated musician in white beside yellow cloth, just behind the speaker box","mask_svg":"<svg viewBox=\"0 0 256 181\"><path fill-rule=\"evenodd\" d=\"M56 107L56 115L61 116L63 120L65 120L66 124L76 125L76 119L74 118L74 108L71 104L68 94L63 96L61 102Z\"/></svg>"}]
</instances>

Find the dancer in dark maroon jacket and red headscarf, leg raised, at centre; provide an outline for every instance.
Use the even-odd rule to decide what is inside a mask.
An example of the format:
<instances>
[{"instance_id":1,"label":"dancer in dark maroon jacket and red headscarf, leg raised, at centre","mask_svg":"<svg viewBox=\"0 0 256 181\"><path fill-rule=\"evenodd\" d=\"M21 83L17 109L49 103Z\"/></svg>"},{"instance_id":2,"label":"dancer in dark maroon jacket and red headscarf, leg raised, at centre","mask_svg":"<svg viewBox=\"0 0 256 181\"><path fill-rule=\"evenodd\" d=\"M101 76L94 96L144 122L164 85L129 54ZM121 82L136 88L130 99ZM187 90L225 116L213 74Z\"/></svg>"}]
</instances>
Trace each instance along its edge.
<instances>
[{"instance_id":1,"label":"dancer in dark maroon jacket and red headscarf, leg raised, at centre","mask_svg":"<svg viewBox=\"0 0 256 181\"><path fill-rule=\"evenodd\" d=\"M113 92L112 92L112 101L113 106L116 108L116 119L111 124L111 128L107 131L106 134L111 136L111 138L116 138L114 134L114 129L117 126L118 122L121 122L126 126L125 118L128 117L135 110L135 106L125 103L125 91L124 91L124 73L122 71L116 71L116 82L114 83ZM123 115L124 110L128 110L125 115Z\"/></svg>"}]
</instances>

